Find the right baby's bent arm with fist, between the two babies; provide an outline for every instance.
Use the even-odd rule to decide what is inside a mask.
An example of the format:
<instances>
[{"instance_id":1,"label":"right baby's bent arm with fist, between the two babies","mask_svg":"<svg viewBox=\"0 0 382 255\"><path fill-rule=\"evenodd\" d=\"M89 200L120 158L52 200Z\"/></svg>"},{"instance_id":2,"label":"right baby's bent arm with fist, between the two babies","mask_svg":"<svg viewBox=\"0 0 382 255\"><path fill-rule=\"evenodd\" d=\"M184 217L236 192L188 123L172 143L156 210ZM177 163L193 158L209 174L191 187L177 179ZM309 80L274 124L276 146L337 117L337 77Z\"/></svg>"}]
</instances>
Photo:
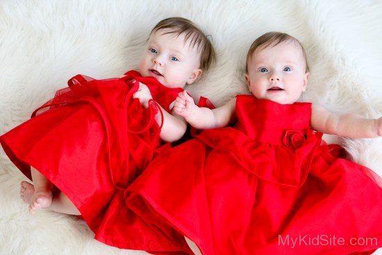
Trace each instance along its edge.
<instances>
[{"instance_id":1,"label":"right baby's bent arm with fist, between the two babies","mask_svg":"<svg viewBox=\"0 0 382 255\"><path fill-rule=\"evenodd\" d=\"M181 115L196 129L215 129L227 126L233 122L236 98L228 103L210 110L205 107L198 107L194 99L187 92L179 93L174 104L174 112Z\"/></svg>"}]
</instances>

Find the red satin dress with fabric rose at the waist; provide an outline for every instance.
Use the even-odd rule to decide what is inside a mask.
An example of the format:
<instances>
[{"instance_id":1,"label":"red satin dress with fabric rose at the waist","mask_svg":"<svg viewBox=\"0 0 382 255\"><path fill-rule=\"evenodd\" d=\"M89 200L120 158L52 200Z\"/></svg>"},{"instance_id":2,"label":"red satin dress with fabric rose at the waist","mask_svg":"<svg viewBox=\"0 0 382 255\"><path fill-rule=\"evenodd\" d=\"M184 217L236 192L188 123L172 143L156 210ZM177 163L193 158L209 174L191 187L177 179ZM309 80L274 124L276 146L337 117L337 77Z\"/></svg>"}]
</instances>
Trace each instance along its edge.
<instances>
[{"instance_id":1,"label":"red satin dress with fabric rose at the waist","mask_svg":"<svg viewBox=\"0 0 382 255\"><path fill-rule=\"evenodd\" d=\"M310 129L310 103L237 97L233 128L156 157L128 187L147 224L202 254L370 254L382 246L382 182ZM358 253L357 253L358 252Z\"/></svg>"}]
</instances>

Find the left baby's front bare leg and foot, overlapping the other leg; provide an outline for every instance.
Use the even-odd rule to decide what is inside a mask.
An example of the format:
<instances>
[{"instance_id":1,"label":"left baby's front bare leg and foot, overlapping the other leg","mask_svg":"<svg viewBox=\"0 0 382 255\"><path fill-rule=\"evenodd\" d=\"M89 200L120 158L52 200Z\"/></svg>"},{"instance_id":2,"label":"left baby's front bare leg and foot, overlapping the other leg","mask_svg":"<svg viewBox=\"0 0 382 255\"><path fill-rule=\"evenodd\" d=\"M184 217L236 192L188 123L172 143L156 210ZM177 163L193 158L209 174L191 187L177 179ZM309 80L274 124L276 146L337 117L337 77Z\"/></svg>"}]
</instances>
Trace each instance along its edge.
<instances>
[{"instance_id":1,"label":"left baby's front bare leg and foot, overlapping the other leg","mask_svg":"<svg viewBox=\"0 0 382 255\"><path fill-rule=\"evenodd\" d=\"M29 212L33 214L40 208L51 206L53 194L51 183L44 175L33 167L31 167L31 174L35 192L29 200Z\"/></svg>"}]
</instances>

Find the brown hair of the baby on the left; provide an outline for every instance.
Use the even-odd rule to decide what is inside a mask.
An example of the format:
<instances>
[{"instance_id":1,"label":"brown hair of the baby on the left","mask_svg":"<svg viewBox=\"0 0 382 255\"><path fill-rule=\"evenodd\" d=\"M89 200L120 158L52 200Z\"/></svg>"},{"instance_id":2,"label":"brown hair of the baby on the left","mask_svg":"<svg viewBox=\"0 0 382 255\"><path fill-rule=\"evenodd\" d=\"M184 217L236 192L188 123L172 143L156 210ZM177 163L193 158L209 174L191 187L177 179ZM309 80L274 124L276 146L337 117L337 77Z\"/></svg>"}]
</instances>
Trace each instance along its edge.
<instances>
[{"instance_id":1,"label":"brown hair of the baby on the left","mask_svg":"<svg viewBox=\"0 0 382 255\"><path fill-rule=\"evenodd\" d=\"M169 17L163 19L154 26L150 35L163 29L169 30L165 34L185 34L185 43L190 43L190 47L197 47L197 51L200 53L201 69L208 69L211 63L216 61L215 50L213 49L210 40L208 40L203 31L190 20L183 17Z\"/></svg>"}]
</instances>

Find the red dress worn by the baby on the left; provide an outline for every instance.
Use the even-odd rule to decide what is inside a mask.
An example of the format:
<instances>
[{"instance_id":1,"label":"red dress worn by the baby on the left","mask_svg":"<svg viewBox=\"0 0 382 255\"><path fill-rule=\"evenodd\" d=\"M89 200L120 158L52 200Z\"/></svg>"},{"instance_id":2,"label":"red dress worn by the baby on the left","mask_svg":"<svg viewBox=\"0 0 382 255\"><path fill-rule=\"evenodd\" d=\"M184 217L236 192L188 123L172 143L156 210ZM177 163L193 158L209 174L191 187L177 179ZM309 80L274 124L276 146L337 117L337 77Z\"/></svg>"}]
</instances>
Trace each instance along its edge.
<instances>
[{"instance_id":1,"label":"red dress worn by the baby on the left","mask_svg":"<svg viewBox=\"0 0 382 255\"><path fill-rule=\"evenodd\" d=\"M156 101L148 109L132 98L139 81ZM169 111L183 89L167 88L135 71L106 80L78 75L68 84L31 120L1 135L10 160L29 179L32 165L64 192L97 240L124 249L189 253L183 236L163 238L124 201L131 181L167 147L153 119L160 110L156 104Z\"/></svg>"}]
</instances>

